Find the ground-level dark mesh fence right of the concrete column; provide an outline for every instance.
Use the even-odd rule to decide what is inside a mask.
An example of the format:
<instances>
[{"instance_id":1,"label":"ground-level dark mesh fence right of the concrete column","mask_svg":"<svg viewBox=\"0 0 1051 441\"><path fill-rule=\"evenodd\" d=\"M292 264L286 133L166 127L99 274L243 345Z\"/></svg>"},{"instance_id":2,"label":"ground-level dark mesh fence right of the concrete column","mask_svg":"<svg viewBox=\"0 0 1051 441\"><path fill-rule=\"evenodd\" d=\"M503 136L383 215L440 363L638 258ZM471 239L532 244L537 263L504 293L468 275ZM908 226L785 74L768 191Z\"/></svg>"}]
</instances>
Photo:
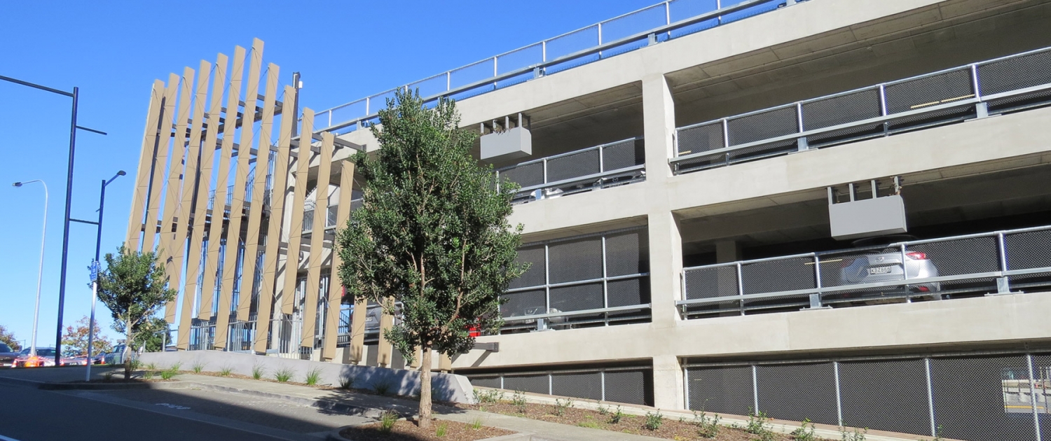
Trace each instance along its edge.
<instances>
[{"instance_id":1,"label":"ground-level dark mesh fence right of the concrete column","mask_svg":"<svg viewBox=\"0 0 1051 441\"><path fill-rule=\"evenodd\" d=\"M687 364L686 407L973 441L1051 436L1051 355Z\"/></svg>"}]
</instances>

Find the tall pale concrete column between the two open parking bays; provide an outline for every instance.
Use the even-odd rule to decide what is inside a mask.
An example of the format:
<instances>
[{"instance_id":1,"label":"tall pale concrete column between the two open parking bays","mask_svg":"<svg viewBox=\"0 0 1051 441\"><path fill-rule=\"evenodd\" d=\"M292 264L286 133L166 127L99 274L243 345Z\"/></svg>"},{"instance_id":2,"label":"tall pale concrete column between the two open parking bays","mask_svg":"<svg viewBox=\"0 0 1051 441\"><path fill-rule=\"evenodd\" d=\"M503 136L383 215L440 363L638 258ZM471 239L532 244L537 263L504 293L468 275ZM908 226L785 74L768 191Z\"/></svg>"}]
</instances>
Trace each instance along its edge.
<instances>
[{"instance_id":1,"label":"tall pale concrete column between the two open parking bays","mask_svg":"<svg viewBox=\"0 0 1051 441\"><path fill-rule=\"evenodd\" d=\"M675 144L675 102L662 75L642 79L643 134L646 158L646 212L650 232L650 291L653 327L668 329L680 320L675 302L682 295L682 236L671 212L665 183L673 177L667 160ZM682 370L672 355L654 357L654 404L682 408Z\"/></svg>"}]
</instances>

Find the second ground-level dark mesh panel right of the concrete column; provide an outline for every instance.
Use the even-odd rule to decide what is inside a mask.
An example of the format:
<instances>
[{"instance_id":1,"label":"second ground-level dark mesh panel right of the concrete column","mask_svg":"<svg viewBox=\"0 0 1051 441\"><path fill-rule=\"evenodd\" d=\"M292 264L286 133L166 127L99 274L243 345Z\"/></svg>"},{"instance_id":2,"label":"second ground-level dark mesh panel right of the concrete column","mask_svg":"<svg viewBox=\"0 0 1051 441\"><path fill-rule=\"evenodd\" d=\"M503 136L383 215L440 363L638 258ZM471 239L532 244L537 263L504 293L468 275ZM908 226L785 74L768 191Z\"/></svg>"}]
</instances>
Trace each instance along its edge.
<instances>
[{"instance_id":1,"label":"second ground-level dark mesh panel right of the concrete column","mask_svg":"<svg viewBox=\"0 0 1051 441\"><path fill-rule=\"evenodd\" d=\"M832 363L759 366L759 411L770 418L837 424Z\"/></svg>"}]
</instances>

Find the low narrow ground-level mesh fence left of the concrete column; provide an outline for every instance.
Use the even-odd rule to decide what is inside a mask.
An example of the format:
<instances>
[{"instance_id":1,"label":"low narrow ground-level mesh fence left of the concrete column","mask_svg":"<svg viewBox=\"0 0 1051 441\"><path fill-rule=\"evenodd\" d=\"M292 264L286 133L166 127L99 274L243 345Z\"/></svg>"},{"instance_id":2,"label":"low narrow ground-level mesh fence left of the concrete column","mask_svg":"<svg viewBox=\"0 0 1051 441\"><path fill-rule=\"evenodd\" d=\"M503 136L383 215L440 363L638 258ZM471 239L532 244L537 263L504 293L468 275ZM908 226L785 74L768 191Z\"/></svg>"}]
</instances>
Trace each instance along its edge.
<instances>
[{"instance_id":1,"label":"low narrow ground-level mesh fence left of the concrete column","mask_svg":"<svg viewBox=\"0 0 1051 441\"><path fill-rule=\"evenodd\" d=\"M463 375L472 385L481 387L627 404L654 403L650 366Z\"/></svg>"}]
</instances>

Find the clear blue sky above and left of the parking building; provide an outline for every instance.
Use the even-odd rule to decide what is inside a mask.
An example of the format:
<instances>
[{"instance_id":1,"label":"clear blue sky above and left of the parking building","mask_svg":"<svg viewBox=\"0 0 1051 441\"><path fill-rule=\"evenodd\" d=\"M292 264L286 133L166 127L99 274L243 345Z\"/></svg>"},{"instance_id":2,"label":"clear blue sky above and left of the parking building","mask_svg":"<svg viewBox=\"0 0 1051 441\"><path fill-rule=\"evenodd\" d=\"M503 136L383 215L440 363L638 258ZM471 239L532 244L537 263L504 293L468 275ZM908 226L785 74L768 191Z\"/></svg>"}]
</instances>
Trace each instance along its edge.
<instances>
[{"instance_id":1,"label":"clear blue sky above and left of the parking building","mask_svg":"<svg viewBox=\"0 0 1051 441\"><path fill-rule=\"evenodd\" d=\"M283 84L303 74L302 104L325 109L586 26L657 0L55 1L8 4L0 14L0 75L80 87L74 217L94 219L107 188L103 253L127 227L150 84L183 66L214 61L234 45L266 42L264 61ZM0 324L28 339L33 328L44 180L50 190L38 345L54 345L69 99L0 82ZM87 315L86 267L95 227L70 226L64 322ZM101 307L101 306L100 306ZM109 312L97 317L103 333Z\"/></svg>"}]
</instances>

